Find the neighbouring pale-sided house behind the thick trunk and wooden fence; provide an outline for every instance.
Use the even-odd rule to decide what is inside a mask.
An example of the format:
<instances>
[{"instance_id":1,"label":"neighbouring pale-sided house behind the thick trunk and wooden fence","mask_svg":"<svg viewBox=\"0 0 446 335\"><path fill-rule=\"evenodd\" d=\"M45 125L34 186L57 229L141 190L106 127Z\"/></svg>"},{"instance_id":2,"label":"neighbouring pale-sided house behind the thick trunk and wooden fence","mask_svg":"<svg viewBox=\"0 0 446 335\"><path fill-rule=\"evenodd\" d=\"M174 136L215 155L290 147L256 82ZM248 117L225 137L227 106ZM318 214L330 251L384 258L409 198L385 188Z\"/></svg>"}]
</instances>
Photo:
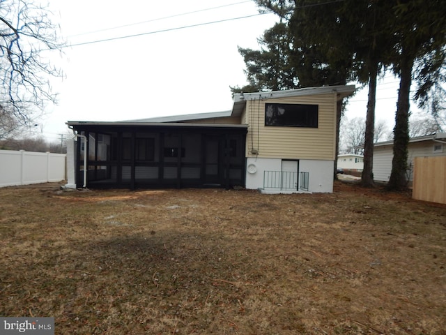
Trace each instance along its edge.
<instances>
[{"instance_id":1,"label":"neighbouring pale-sided house behind the thick trunk and wooden fence","mask_svg":"<svg viewBox=\"0 0 446 335\"><path fill-rule=\"evenodd\" d=\"M413 181L415 157L446 156L446 133L412 137L408 143L407 180ZM392 172L393 141L374 144L374 179L387 182Z\"/></svg>"}]
</instances>

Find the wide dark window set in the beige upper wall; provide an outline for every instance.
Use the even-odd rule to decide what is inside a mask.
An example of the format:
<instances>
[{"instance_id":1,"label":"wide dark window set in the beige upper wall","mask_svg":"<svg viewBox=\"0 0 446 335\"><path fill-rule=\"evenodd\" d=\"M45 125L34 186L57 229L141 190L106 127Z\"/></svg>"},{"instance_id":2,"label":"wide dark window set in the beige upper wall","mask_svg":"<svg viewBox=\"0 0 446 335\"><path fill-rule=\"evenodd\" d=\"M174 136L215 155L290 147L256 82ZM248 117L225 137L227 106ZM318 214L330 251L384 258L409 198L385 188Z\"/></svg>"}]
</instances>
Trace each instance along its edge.
<instances>
[{"instance_id":1,"label":"wide dark window set in the beige upper wall","mask_svg":"<svg viewBox=\"0 0 446 335\"><path fill-rule=\"evenodd\" d=\"M318 127L318 105L265 104L265 126Z\"/></svg>"}]
</instances>

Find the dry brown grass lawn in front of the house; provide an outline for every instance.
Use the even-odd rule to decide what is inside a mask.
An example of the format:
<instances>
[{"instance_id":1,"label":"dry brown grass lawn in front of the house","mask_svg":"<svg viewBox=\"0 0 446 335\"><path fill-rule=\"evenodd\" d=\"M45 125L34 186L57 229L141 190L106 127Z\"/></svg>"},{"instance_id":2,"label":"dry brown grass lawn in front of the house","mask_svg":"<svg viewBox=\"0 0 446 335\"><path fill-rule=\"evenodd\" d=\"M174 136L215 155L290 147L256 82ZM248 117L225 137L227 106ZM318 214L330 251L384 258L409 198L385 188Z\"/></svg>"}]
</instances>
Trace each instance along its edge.
<instances>
[{"instance_id":1,"label":"dry brown grass lawn in front of the house","mask_svg":"<svg viewBox=\"0 0 446 335\"><path fill-rule=\"evenodd\" d=\"M345 184L0 196L0 315L56 334L445 334L443 205Z\"/></svg>"}]
</instances>

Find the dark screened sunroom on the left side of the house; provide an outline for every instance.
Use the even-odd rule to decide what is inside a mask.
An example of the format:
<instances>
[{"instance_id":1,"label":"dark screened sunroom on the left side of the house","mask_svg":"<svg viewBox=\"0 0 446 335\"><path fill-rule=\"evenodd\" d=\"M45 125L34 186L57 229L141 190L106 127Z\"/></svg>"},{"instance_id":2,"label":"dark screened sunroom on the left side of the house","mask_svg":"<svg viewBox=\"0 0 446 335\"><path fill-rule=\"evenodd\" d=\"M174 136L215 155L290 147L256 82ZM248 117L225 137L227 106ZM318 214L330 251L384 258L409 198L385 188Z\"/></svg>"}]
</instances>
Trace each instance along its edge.
<instances>
[{"instance_id":1,"label":"dark screened sunroom on the left side of the house","mask_svg":"<svg viewBox=\"0 0 446 335\"><path fill-rule=\"evenodd\" d=\"M77 185L245 186L247 126L84 121L69 121L68 126L77 135Z\"/></svg>"}]
</instances>

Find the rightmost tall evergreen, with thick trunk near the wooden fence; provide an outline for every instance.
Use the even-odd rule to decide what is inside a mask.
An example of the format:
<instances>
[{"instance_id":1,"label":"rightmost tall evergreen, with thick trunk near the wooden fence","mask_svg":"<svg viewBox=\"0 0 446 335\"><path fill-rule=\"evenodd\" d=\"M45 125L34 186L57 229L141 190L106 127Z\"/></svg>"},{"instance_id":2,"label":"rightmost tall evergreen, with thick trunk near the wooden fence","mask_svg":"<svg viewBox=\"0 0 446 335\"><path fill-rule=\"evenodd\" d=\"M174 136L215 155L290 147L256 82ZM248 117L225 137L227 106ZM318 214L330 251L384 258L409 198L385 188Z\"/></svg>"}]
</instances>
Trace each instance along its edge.
<instances>
[{"instance_id":1,"label":"rightmost tall evergreen, with thick trunk near the wooden fence","mask_svg":"<svg viewBox=\"0 0 446 335\"><path fill-rule=\"evenodd\" d=\"M394 127L392 172L387 188L401 191L407 187L410 87L414 66L421 64L415 97L422 98L433 87L434 78L445 63L446 1L392 1L394 20L389 22L389 34L397 38L394 44L393 68L400 77L397 113ZM440 77L436 77L437 80ZM444 78L443 78L444 79Z\"/></svg>"}]
</instances>

